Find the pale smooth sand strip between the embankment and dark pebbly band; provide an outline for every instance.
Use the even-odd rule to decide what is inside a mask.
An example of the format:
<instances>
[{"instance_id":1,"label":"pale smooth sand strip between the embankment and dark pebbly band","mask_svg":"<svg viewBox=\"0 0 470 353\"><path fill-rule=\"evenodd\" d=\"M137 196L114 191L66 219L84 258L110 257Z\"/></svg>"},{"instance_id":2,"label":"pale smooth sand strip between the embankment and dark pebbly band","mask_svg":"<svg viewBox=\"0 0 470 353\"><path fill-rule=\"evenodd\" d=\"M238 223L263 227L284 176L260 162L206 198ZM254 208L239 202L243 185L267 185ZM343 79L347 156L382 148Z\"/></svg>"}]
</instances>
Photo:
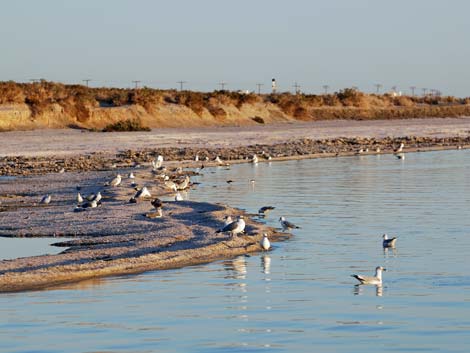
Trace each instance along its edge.
<instances>
[{"instance_id":1,"label":"pale smooth sand strip between the embankment and dark pebbly band","mask_svg":"<svg viewBox=\"0 0 470 353\"><path fill-rule=\"evenodd\" d=\"M469 118L401 120L326 120L242 127L154 129L151 132L101 133L82 130L1 132L1 156L65 156L163 147L223 148L272 145L299 139L339 137L468 136Z\"/></svg>"}]
</instances>

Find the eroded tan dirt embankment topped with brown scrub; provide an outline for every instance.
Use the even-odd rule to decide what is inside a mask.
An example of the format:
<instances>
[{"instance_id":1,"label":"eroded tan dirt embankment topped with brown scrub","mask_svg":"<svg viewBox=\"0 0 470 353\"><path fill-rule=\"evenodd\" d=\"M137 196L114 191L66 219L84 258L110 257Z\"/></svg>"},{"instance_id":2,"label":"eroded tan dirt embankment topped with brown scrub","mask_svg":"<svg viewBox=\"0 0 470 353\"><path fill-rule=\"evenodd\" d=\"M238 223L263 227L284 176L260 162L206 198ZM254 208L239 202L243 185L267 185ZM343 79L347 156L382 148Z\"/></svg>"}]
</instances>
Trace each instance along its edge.
<instances>
[{"instance_id":1,"label":"eroded tan dirt embankment topped with brown scrub","mask_svg":"<svg viewBox=\"0 0 470 353\"><path fill-rule=\"evenodd\" d=\"M0 82L0 131L101 130L129 119L149 128L254 126L293 121L470 116L470 100L344 89L325 95L88 88Z\"/></svg>"}]
</instances>

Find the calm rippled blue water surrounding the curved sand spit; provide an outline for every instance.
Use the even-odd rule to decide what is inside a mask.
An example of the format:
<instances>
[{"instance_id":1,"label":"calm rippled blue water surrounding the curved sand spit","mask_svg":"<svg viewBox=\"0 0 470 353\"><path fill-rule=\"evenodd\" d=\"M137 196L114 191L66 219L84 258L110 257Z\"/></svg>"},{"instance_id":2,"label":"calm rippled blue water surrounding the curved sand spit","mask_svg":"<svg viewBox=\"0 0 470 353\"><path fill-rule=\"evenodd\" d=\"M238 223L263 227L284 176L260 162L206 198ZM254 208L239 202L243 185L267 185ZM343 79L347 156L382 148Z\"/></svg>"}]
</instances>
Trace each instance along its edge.
<instances>
[{"instance_id":1,"label":"calm rippled blue water surrounding the curved sand spit","mask_svg":"<svg viewBox=\"0 0 470 353\"><path fill-rule=\"evenodd\" d=\"M269 254L3 294L0 351L468 352L470 151L204 172L190 199L302 229ZM356 287L377 265L382 290Z\"/></svg>"}]
</instances>

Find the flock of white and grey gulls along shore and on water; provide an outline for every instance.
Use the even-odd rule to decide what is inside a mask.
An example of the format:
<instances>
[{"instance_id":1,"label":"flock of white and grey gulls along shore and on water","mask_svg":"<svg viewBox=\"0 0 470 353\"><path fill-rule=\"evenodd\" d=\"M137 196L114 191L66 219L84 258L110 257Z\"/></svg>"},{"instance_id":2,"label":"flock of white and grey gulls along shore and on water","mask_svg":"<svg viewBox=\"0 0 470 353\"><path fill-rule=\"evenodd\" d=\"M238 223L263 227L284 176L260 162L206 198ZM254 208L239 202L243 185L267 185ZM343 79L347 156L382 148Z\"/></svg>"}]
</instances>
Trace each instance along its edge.
<instances>
[{"instance_id":1,"label":"flock of white and grey gulls along shore and on water","mask_svg":"<svg viewBox=\"0 0 470 353\"><path fill-rule=\"evenodd\" d=\"M403 149L404 149L404 144L401 143L400 146L397 149L394 150L394 155L395 155L396 158L405 159ZM364 152L364 151L361 150L358 153L361 153L361 152ZM378 149L378 151L376 151L376 152L380 152L380 150ZM261 156L265 160L271 160L271 156L269 156L268 154L266 154L264 152L261 153ZM195 158L194 158L194 161L197 162L199 160L200 160L199 156L196 155ZM206 157L205 160L208 161L209 158ZM186 190L192 185L190 177L188 175L185 175L184 178L182 178L182 179L181 179L181 177L176 177L176 178L174 176L170 177L169 173L167 173L167 168L165 166L163 166L163 161L164 161L163 156L158 155L155 158L155 160L153 160L151 162L151 166L152 166L151 172L156 177L161 178L163 180L164 186L170 192L174 193L174 200L175 201L183 201L183 196L181 195L180 191ZM217 165L219 165L219 166L226 166L226 167L230 166L228 163L223 161L219 156L216 156L214 158L214 162L217 163ZM252 156L250 162L253 163L253 164L257 164L259 162L258 156L256 154L254 154ZM135 167L139 168L140 165L135 165ZM198 169L199 170L204 169L204 165L201 165L201 167L198 168ZM174 171L177 173L177 175L181 175L183 169L182 169L182 167L178 167ZM62 172L63 171L61 170L61 173ZM147 217L147 218L161 218L161 217L163 217L163 202L158 198L154 198L152 200L152 194L151 194L150 190L147 188L147 186L142 186L141 188L139 188L137 186L137 183L135 182L135 175L134 175L133 172L130 172L127 175L127 178L131 181L130 185L135 190L134 195L129 199L129 203L137 203L137 200L139 200L139 199L144 199L144 200L150 199L151 200L150 203L153 207L153 210L151 212L146 213L145 217ZM117 174L113 179L106 182L104 184L104 186L111 187L111 188L119 187L122 184L122 181L123 181L123 176L121 174ZM231 183L231 182L233 182L233 180L227 180L227 183ZM254 183L255 180L250 180L250 182ZM77 187L77 189L79 190L80 188ZM44 195L42 197L41 201L40 201L40 204L47 205L51 202L51 199L52 199L52 197L51 197L50 194ZM85 211L89 208L96 208L96 207L101 205L101 200L102 200L101 191L98 191L96 194L92 193L92 194L87 195L87 196L82 196L80 194L80 192L78 192L77 193L77 198L76 198L77 206L75 207L74 211L75 212L81 212L81 211ZM274 209L275 209L274 206L263 206L258 210L258 216L260 218L264 218L269 214L269 212L271 212ZM279 223L280 223L281 228L282 228L283 231L290 231L290 230L293 230L293 229L299 229L300 228L296 224L286 220L286 218L283 217L283 216L281 216L279 218ZM229 234L231 237L236 237L236 236L244 233L245 225L246 224L245 224L245 220L244 220L243 215L238 216L236 219L232 219L232 217L230 215L227 215L224 218L223 227L219 228L216 231L216 233L226 233L226 234ZM396 242L397 242L397 237L389 238L387 234L384 234L382 236L382 238L383 238L382 246L383 246L384 249L395 248ZM269 241L267 233L263 234L263 237L262 237L259 245L260 245L260 247L263 251L269 251L269 250L272 249L271 242ZM357 279L359 281L359 284L369 284L369 285L381 286L382 285L382 272L383 271L386 271L386 269L383 268L382 266L377 266L376 269L375 269L375 275L373 275L373 276L363 276L363 275L358 275L358 274L353 274L351 276L354 277L355 279Z\"/></svg>"}]
</instances>

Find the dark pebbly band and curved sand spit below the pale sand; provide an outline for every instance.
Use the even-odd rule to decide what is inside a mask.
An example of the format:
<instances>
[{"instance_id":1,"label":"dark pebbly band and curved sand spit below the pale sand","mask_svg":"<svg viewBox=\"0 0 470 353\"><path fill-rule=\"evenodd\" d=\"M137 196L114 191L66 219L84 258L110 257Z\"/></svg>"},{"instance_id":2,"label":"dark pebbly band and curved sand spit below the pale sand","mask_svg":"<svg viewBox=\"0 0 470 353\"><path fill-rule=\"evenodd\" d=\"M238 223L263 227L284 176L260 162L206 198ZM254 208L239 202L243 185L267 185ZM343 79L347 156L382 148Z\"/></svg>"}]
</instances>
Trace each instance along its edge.
<instances>
[{"instance_id":1,"label":"dark pebbly band and curved sand spit below the pale sand","mask_svg":"<svg viewBox=\"0 0 470 353\"><path fill-rule=\"evenodd\" d=\"M296 126L294 132L298 128ZM105 186L116 173L124 175L134 171L138 185L148 186L154 197L172 195L163 180L148 167L149 161L159 153L166 156L165 166L170 179L180 181L191 172L178 171L177 166L220 165L213 161L215 154L223 158L221 165L225 165L248 163L253 153L258 154L260 162L268 162L262 157L268 155L272 156L269 162L275 162L386 154L393 153L401 142L405 143L404 152L470 148L468 130L466 127L461 130L459 127L457 136L444 137L299 138L274 144L249 144L251 140L245 139L242 141L245 144L241 145L233 143L234 140L240 142L234 136L224 147L205 150L194 146L166 146L120 150L116 154L96 151L88 156L3 157L0 159L0 176L8 177L0 177L0 236L72 236L77 240L59 244L68 249L58 255L0 261L0 292L37 290L98 277L207 263L261 251L259 240L263 232L268 232L272 241L291 236L251 217L247 218L246 235L233 239L221 236L215 231L223 224L223 216L243 212L220 204L169 201L164 203L163 218L148 219L144 215L151 211L150 200L136 204L128 201L135 193L131 180L125 179L118 188ZM292 130L289 133L292 134ZM380 152L376 152L377 148ZM261 154L263 151L265 153ZM189 160L195 153L201 153L201 157L207 155L210 160ZM142 166L133 168L134 164ZM65 168L65 172L59 173L59 168ZM78 187L85 194L102 191L102 206L73 212ZM38 205L40 197L47 193L54 195L54 201L51 205ZM12 219L16 222L12 223Z\"/></svg>"}]
</instances>

